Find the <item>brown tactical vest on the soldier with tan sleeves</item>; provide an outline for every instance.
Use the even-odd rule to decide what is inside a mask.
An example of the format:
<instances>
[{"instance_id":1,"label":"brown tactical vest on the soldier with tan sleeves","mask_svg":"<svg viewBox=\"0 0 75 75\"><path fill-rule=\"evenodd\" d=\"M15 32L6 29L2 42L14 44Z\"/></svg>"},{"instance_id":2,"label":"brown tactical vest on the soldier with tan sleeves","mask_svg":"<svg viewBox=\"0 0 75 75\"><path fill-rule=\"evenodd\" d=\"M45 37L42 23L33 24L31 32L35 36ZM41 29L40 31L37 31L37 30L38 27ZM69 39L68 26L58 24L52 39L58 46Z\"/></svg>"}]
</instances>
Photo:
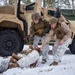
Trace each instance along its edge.
<instances>
[{"instance_id":1,"label":"brown tactical vest on the soldier with tan sleeves","mask_svg":"<svg viewBox=\"0 0 75 75\"><path fill-rule=\"evenodd\" d=\"M66 35L66 32L64 31L64 29L61 27L61 25L58 25L55 29L54 29L54 34L56 35L56 37L58 39L63 39L63 37Z\"/></svg>"}]
</instances>

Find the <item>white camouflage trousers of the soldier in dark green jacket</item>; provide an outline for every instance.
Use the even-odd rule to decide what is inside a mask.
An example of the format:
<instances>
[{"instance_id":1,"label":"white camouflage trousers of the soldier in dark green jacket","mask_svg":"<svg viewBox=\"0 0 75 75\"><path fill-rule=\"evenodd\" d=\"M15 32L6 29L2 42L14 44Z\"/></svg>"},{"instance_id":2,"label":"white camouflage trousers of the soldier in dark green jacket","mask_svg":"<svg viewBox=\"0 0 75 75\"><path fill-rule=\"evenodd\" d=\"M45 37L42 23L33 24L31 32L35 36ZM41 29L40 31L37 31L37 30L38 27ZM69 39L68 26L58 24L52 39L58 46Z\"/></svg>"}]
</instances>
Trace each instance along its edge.
<instances>
[{"instance_id":1,"label":"white camouflage trousers of the soldier in dark green jacket","mask_svg":"<svg viewBox=\"0 0 75 75\"><path fill-rule=\"evenodd\" d=\"M42 43L44 42L45 38L46 38L47 35L43 36L43 37L40 37L38 35L35 35L34 36L34 41L33 41L33 47L37 47L38 46L38 43L39 41L41 41ZM46 44L44 47L43 47L43 50L42 50L42 59L48 59L48 51L49 51L49 44Z\"/></svg>"}]
</instances>

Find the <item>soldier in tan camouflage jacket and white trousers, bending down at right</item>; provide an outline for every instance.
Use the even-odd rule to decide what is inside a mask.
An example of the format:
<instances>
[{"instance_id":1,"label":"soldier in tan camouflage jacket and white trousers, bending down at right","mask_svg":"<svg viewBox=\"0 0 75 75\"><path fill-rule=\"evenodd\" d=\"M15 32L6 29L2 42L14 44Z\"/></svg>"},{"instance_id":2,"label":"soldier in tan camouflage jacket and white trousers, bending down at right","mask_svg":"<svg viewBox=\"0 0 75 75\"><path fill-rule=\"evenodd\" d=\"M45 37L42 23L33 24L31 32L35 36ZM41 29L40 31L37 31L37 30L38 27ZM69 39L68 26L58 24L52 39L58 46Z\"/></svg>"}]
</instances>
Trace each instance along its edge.
<instances>
[{"instance_id":1,"label":"soldier in tan camouflage jacket and white trousers, bending down at right","mask_svg":"<svg viewBox=\"0 0 75 75\"><path fill-rule=\"evenodd\" d=\"M66 49L71 43L71 30L65 24L65 22L58 22L58 19L52 17L49 21L51 30L46 37L45 41L42 43L40 49L44 47L47 43L49 43L51 37L56 35L57 39L53 47L53 55L54 61L50 65L58 65L59 61L61 61L61 57L64 55Z\"/></svg>"}]
</instances>

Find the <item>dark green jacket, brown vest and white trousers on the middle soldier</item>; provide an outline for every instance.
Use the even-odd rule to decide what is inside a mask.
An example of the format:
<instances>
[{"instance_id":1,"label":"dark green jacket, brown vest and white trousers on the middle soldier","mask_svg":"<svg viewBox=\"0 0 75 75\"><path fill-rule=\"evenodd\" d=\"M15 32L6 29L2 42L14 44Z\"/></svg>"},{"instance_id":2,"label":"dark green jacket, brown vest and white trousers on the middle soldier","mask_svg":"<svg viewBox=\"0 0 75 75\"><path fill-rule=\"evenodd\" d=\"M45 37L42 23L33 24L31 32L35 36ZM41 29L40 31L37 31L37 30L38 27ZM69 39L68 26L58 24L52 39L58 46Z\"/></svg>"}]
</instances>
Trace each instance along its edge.
<instances>
[{"instance_id":1,"label":"dark green jacket, brown vest and white trousers on the middle soldier","mask_svg":"<svg viewBox=\"0 0 75 75\"><path fill-rule=\"evenodd\" d=\"M44 41L44 39L46 38L46 34L49 32L49 30L50 30L50 25L46 20L40 19L38 24L35 24L34 22L31 23L30 35L32 35L34 32L37 32L29 40L30 42L33 43L34 48L38 47L38 43L40 40L41 40L41 42ZM39 49L38 49L38 51L40 52ZM44 46L44 48L42 50L42 56L43 56L42 58L43 59L46 59L46 60L48 59L48 51L49 51L49 44Z\"/></svg>"}]
</instances>

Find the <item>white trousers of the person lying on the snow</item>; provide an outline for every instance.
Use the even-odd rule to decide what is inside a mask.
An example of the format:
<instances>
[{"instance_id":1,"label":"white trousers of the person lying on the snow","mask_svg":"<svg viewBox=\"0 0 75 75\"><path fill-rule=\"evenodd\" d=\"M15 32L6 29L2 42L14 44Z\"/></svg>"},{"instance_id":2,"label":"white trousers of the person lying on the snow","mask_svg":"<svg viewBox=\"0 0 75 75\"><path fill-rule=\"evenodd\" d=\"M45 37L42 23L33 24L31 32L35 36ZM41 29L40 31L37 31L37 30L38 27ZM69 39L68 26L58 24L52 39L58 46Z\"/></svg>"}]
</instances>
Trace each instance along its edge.
<instances>
[{"instance_id":1,"label":"white trousers of the person lying on the snow","mask_svg":"<svg viewBox=\"0 0 75 75\"><path fill-rule=\"evenodd\" d=\"M39 59L39 53L36 50L33 50L26 57L21 58L17 61L21 68L28 67L35 61Z\"/></svg>"}]
</instances>

